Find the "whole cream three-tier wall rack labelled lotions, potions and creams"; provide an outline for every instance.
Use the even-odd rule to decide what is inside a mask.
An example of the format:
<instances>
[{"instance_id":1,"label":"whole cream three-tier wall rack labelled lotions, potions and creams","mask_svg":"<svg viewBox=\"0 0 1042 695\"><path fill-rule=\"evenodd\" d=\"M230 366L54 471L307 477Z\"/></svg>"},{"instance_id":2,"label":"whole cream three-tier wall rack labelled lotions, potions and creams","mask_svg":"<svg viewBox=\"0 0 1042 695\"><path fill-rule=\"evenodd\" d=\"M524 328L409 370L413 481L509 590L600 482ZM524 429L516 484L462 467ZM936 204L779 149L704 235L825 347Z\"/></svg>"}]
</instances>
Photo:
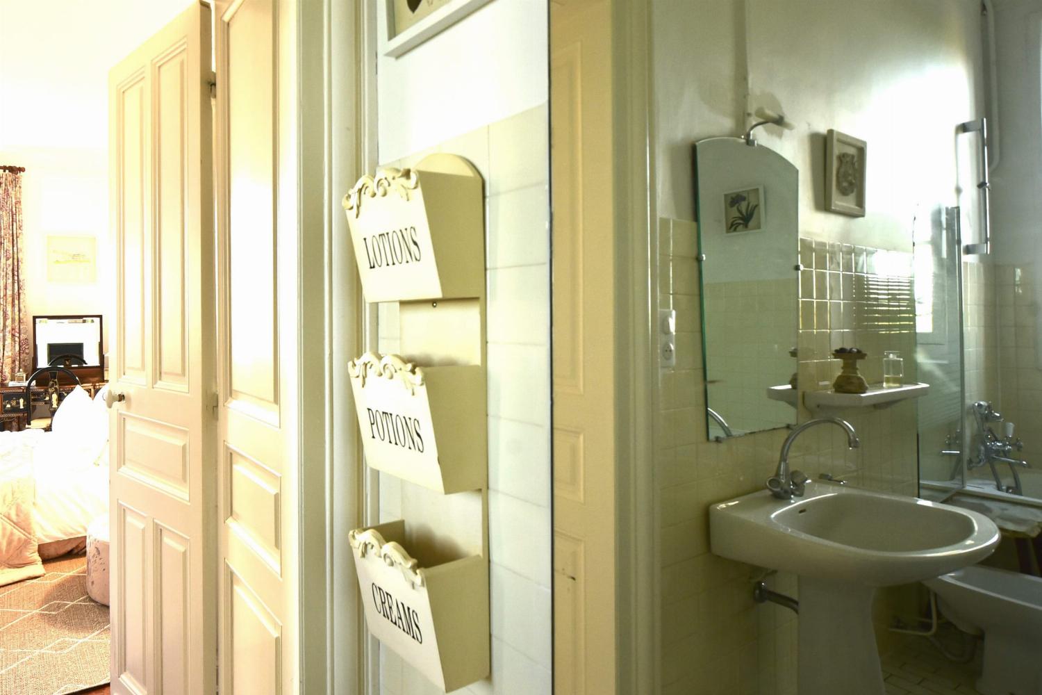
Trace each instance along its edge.
<instances>
[{"instance_id":1,"label":"whole cream three-tier wall rack labelled lotions, potions and creams","mask_svg":"<svg viewBox=\"0 0 1042 695\"><path fill-rule=\"evenodd\" d=\"M400 321L400 356L348 364L366 463L401 480L403 520L351 531L366 623L446 692L490 668L482 188L432 154L344 197L366 301Z\"/></svg>"}]
</instances>

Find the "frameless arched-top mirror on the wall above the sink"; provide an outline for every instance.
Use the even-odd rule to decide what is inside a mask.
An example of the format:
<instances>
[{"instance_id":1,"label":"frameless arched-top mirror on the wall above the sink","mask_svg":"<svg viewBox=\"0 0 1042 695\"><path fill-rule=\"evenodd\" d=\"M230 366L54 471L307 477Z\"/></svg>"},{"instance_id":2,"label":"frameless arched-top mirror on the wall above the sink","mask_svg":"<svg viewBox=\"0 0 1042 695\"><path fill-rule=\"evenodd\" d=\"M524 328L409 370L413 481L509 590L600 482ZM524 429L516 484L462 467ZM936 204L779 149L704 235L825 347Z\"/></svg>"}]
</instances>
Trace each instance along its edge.
<instances>
[{"instance_id":1,"label":"frameless arched-top mirror on the wall above the sink","mask_svg":"<svg viewBox=\"0 0 1042 695\"><path fill-rule=\"evenodd\" d=\"M711 440L796 422L799 172L739 138L695 145Z\"/></svg>"}]
</instances>

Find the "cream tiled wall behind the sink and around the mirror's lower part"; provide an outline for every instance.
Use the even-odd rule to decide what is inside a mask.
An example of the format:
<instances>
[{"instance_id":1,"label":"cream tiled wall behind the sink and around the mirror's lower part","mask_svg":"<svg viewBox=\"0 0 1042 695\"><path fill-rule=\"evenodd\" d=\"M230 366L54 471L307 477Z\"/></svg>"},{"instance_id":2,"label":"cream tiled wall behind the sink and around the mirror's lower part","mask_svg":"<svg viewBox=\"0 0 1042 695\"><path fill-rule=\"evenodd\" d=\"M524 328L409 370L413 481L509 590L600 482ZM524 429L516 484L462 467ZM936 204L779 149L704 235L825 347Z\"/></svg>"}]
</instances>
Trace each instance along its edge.
<instances>
[{"instance_id":1,"label":"cream tiled wall behind the sink and around the mirror's lower part","mask_svg":"<svg viewBox=\"0 0 1042 695\"><path fill-rule=\"evenodd\" d=\"M676 366L661 370L655 431L663 692L794 694L795 615L753 603L752 581L763 570L710 552L710 504L761 489L774 473L788 430L723 442L706 438L696 235L693 222L660 220L659 302L676 312L678 331ZM869 381L882 380L882 350L905 352L905 378L914 379L910 254L811 239L800 241L799 253L804 268L792 286L799 284L801 303L800 389L828 388L839 364L827 353L840 346L872 355L866 359ZM841 415L858 429L862 447L848 450L839 428L817 427L797 440L793 466L812 476L830 473L853 485L915 494L914 404ZM802 422L811 415L803 409L799 417ZM794 576L773 574L767 581L798 594ZM889 619L886 600L877 615L880 624Z\"/></svg>"}]
</instances>

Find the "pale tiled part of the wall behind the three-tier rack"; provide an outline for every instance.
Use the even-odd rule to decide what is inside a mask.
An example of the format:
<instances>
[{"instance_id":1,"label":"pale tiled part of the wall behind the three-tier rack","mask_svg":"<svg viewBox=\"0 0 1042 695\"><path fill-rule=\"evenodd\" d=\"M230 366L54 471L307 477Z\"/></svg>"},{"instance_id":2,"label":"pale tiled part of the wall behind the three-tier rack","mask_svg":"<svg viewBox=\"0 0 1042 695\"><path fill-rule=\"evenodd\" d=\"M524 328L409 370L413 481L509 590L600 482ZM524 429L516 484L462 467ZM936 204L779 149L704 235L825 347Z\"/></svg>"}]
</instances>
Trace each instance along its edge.
<instances>
[{"instance_id":1,"label":"pale tiled part of the wall behind the three-tier rack","mask_svg":"<svg viewBox=\"0 0 1042 695\"><path fill-rule=\"evenodd\" d=\"M492 676L457 691L472 695L552 691L547 119L539 106L386 163L451 152L485 178ZM398 350L397 303L379 305L378 337ZM410 483L379 485L380 521L400 518ZM383 695L441 692L390 649L380 662Z\"/></svg>"}]
</instances>

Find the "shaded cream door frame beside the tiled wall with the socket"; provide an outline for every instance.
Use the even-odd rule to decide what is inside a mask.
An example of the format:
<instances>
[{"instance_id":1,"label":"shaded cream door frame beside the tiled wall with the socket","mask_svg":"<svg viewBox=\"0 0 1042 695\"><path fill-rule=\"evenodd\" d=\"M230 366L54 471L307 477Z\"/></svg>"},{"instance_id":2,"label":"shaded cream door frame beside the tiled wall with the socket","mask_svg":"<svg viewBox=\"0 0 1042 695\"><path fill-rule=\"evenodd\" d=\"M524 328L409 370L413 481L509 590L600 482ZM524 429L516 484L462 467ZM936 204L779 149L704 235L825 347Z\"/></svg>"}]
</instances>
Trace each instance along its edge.
<instances>
[{"instance_id":1,"label":"shaded cream door frame beside the tiled wall with the socket","mask_svg":"<svg viewBox=\"0 0 1042 695\"><path fill-rule=\"evenodd\" d=\"M659 692L655 512L659 238L650 0L613 0L616 234L616 650L619 695ZM629 230L626 233L623 230Z\"/></svg>"}]
</instances>

